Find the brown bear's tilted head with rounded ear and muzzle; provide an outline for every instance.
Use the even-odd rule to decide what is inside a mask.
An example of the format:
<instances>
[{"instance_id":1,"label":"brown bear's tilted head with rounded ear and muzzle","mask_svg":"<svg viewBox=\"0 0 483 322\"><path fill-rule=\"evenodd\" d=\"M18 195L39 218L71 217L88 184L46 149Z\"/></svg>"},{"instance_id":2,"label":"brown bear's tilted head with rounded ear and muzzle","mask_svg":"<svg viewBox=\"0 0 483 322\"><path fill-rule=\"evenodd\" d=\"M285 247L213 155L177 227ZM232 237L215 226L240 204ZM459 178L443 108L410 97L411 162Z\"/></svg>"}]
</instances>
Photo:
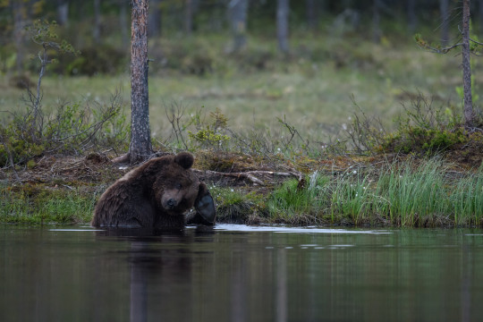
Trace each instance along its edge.
<instances>
[{"instance_id":1,"label":"brown bear's tilted head with rounded ear and muzzle","mask_svg":"<svg viewBox=\"0 0 483 322\"><path fill-rule=\"evenodd\" d=\"M167 215L180 216L194 206L199 194L199 180L190 170L194 158L182 152L164 159L152 191L158 208Z\"/></svg>"}]
</instances>

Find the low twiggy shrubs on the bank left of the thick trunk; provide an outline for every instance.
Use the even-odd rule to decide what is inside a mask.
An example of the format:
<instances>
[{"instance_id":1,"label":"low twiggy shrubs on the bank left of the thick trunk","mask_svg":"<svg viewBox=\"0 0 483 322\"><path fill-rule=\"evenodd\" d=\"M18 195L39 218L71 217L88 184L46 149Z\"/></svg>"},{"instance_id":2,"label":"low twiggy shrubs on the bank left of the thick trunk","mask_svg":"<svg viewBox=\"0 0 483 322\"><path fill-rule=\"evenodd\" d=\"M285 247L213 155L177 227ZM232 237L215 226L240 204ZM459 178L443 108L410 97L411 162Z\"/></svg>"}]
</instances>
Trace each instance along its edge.
<instances>
[{"instance_id":1,"label":"low twiggy shrubs on the bank left of the thick trunk","mask_svg":"<svg viewBox=\"0 0 483 322\"><path fill-rule=\"evenodd\" d=\"M33 109L11 114L0 124L0 166L27 164L48 154L81 154L90 149L127 147L129 125L125 123L119 93L110 104L61 104L54 113L38 114Z\"/></svg>"}]
</instances>

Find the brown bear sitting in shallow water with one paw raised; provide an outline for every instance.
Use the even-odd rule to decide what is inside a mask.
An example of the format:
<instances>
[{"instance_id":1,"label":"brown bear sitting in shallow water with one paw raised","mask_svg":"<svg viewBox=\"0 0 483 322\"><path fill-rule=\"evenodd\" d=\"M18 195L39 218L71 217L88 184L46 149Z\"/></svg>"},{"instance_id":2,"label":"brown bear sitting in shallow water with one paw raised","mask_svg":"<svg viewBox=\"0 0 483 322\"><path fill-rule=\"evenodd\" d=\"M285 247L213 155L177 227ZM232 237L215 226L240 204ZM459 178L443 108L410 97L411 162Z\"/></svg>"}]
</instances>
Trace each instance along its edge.
<instances>
[{"instance_id":1,"label":"brown bear sitting in shallow water with one paw raised","mask_svg":"<svg viewBox=\"0 0 483 322\"><path fill-rule=\"evenodd\" d=\"M190 153L181 152L133 169L102 194L90 224L159 229L213 225L215 204L206 184L191 172L193 162ZM193 207L196 212L185 216Z\"/></svg>"}]
</instances>

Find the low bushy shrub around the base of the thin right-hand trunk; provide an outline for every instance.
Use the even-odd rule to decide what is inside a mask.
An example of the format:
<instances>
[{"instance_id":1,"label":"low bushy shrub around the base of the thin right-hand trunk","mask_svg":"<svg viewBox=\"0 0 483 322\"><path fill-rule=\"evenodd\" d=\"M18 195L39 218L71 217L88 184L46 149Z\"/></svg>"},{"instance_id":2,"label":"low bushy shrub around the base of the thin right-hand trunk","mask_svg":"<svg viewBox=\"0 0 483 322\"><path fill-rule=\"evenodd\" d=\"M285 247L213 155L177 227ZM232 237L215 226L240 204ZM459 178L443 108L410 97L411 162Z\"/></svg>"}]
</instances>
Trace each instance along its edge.
<instances>
[{"instance_id":1,"label":"low bushy shrub around the base of the thin right-hand trunk","mask_svg":"<svg viewBox=\"0 0 483 322\"><path fill-rule=\"evenodd\" d=\"M476 120L477 124L483 124L481 117L477 116ZM461 112L455 106L435 106L433 100L422 94L411 106L404 106L395 131L385 131L377 119L361 113L355 115L348 133L352 148L371 154L436 156L462 147L483 150L480 132L465 129Z\"/></svg>"}]
</instances>

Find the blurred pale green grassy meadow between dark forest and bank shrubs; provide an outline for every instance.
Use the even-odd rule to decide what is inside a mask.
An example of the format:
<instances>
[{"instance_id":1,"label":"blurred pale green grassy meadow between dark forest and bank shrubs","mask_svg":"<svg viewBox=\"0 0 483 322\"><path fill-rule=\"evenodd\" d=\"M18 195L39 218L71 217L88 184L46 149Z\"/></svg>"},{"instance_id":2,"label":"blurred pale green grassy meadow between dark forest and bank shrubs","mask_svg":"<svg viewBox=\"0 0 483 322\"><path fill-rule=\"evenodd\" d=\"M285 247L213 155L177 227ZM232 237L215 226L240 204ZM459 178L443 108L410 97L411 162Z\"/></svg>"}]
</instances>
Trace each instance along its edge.
<instances>
[{"instance_id":1,"label":"blurred pale green grassy meadow between dark forest and bank shrubs","mask_svg":"<svg viewBox=\"0 0 483 322\"><path fill-rule=\"evenodd\" d=\"M188 38L182 49L191 50L179 61L163 67L155 58L150 64L149 108L153 136L165 138L171 132L166 109L182 106L184 120L196 113L219 109L234 131L253 128L280 131L277 118L290 123L304 136L325 140L335 136L359 112L354 102L388 126L402 113L402 105L422 93L437 105L460 105L456 87L461 86L460 56L436 55L417 47L408 36L402 44L386 39L376 45L356 39L294 37L292 54L276 53L274 39L250 38L241 58L224 53L228 38ZM176 40L158 41L150 48L174 51ZM167 48L167 49L166 49ZM199 57L199 55L201 55ZM172 58L175 60L175 58ZM207 63L208 61L208 63ZM197 63L198 62L198 63ZM256 65L262 67L256 67ZM173 68L169 66L173 65ZM200 65L208 72L192 72ZM474 70L478 87L478 64ZM180 72L189 70L191 72ZM31 73L30 79L36 80ZM121 89L125 113L130 112L129 70L118 75L69 77L47 72L42 80L43 106L55 109L58 102L88 104L108 102ZM0 83L3 110L21 109L24 90L9 86L4 75Z\"/></svg>"}]
</instances>

